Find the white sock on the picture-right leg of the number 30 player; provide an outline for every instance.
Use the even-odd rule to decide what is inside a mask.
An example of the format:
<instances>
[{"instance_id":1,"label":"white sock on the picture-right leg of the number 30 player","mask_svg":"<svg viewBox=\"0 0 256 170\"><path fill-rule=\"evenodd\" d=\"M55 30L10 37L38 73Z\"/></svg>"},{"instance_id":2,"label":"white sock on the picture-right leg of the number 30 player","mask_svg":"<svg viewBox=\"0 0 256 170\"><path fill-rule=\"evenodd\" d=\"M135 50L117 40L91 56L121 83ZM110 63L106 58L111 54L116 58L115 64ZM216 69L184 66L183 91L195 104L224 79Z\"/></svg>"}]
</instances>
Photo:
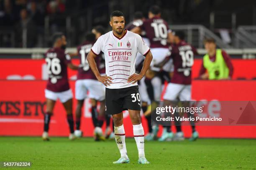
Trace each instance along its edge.
<instances>
[{"instance_id":1,"label":"white sock on the picture-right leg of the number 30 player","mask_svg":"<svg viewBox=\"0 0 256 170\"><path fill-rule=\"evenodd\" d=\"M133 125L133 135L138 148L139 158L145 158L144 153L144 130L142 124Z\"/></svg>"}]
</instances>

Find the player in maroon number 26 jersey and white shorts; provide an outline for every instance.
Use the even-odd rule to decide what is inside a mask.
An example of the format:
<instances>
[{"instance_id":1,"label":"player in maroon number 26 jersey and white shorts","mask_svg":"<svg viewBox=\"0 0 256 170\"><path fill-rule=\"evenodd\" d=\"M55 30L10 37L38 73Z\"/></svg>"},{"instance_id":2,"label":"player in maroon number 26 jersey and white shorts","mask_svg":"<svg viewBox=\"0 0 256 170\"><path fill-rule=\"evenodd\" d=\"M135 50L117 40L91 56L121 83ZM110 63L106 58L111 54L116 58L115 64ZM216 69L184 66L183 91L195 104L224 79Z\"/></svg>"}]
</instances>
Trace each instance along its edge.
<instances>
[{"instance_id":1,"label":"player in maroon number 26 jersey and white shorts","mask_svg":"<svg viewBox=\"0 0 256 170\"><path fill-rule=\"evenodd\" d=\"M73 65L70 56L65 54L67 45L66 37L63 33L56 33L53 36L53 47L46 52L45 61L47 62L47 69L49 80L47 81L45 89L46 97L46 114L44 115L44 133L43 140L49 140L48 131L51 116L53 115L54 105L56 100L63 103L67 112L67 121L69 124L70 135L69 139L73 140L74 136L74 120L72 115L72 91L69 88L69 81L67 77L67 67L72 70L77 70L78 67Z\"/></svg>"}]
</instances>

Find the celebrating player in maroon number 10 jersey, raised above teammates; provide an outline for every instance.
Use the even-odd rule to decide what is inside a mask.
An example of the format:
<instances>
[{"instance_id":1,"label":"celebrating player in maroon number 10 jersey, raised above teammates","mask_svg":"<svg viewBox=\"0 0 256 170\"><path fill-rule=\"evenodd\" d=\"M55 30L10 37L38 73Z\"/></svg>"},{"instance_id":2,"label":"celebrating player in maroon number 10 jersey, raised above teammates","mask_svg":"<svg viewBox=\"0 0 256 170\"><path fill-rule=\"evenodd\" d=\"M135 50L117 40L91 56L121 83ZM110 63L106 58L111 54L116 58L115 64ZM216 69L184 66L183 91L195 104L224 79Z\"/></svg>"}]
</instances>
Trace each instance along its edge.
<instances>
[{"instance_id":1,"label":"celebrating player in maroon number 10 jersey, raised above teammates","mask_svg":"<svg viewBox=\"0 0 256 170\"><path fill-rule=\"evenodd\" d=\"M152 105L157 105L155 101L159 101L161 98L162 81L164 78L162 75L168 75L172 71L172 60L169 60L163 67L161 75L160 69L154 67L164 61L165 57L169 54L169 45L167 41L172 40L172 31L165 20L161 18L161 9L157 5L150 7L148 12L148 20L143 21L143 24L133 28L131 31L141 34L146 33L146 37L150 40L151 52L153 55L153 61L151 62L150 70L146 72L146 85L148 89L153 89L148 92ZM164 73L165 72L165 73ZM164 73L164 74L163 74ZM165 76L166 77L166 76ZM148 116L149 117L149 116ZM156 138L158 132L158 126L152 126L152 133L149 133L146 137L148 140Z\"/></svg>"}]
</instances>

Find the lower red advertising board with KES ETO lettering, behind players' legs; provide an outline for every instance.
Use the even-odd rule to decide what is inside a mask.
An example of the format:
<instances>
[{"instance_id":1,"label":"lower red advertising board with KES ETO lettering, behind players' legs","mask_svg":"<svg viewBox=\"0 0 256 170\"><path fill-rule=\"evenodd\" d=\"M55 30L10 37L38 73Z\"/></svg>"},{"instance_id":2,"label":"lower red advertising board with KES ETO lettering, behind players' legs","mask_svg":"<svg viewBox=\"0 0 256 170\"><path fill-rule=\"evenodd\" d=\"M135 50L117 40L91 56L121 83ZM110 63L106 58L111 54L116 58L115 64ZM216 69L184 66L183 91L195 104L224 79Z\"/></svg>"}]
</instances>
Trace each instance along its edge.
<instances>
[{"instance_id":1,"label":"lower red advertising board with KES ETO lettering, behind players' legs","mask_svg":"<svg viewBox=\"0 0 256 170\"><path fill-rule=\"evenodd\" d=\"M2 80L0 81L0 135L38 136L43 130L45 110L44 80ZM70 82L74 92L74 81ZM256 101L256 81L220 80L192 82L192 98L212 101ZM75 110L76 101L73 101ZM209 114L208 112L205 112ZM133 136L131 120L124 113L124 126L127 136ZM147 132L146 121L142 120ZM92 136L93 126L90 118L90 100L86 100L81 129L84 136ZM185 137L191 135L189 126L183 126ZM256 126L197 126L202 138L256 138ZM159 132L159 134L161 131ZM69 134L66 113L60 102L56 102L51 119L49 135L67 136Z\"/></svg>"}]
</instances>

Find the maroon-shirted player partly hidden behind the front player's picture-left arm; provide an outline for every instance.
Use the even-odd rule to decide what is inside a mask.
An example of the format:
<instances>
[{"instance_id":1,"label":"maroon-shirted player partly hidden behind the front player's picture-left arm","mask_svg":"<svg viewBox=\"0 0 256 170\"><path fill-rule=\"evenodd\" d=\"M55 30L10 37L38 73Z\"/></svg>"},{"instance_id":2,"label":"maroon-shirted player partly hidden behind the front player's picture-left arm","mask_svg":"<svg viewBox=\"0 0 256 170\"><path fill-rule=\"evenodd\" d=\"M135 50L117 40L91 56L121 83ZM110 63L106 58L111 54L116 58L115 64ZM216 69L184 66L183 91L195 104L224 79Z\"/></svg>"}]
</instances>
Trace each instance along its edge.
<instances>
[{"instance_id":1,"label":"maroon-shirted player partly hidden behind the front player's picture-left arm","mask_svg":"<svg viewBox=\"0 0 256 170\"><path fill-rule=\"evenodd\" d=\"M76 108L76 129L75 135L77 137L82 136L82 131L80 130L81 123L81 113L82 106L84 104L84 99L87 97L87 92L89 91L89 98L92 104L92 122L94 125L94 138L96 141L105 140L102 136L102 124L105 117L105 87L102 83L98 82L95 75L93 74L90 66L87 62L87 55L91 50L96 38L104 34L104 29L99 27L99 29L93 29L92 32L87 33L86 41L77 47L77 54L80 58L80 67L77 72L77 81L75 84L75 95L77 99ZM97 31L98 30L98 31ZM96 37L97 36L97 37ZM98 67L100 67L100 73L105 73L105 65L101 65L102 54L97 58ZM97 101L100 101L100 112L97 112Z\"/></svg>"}]
</instances>

